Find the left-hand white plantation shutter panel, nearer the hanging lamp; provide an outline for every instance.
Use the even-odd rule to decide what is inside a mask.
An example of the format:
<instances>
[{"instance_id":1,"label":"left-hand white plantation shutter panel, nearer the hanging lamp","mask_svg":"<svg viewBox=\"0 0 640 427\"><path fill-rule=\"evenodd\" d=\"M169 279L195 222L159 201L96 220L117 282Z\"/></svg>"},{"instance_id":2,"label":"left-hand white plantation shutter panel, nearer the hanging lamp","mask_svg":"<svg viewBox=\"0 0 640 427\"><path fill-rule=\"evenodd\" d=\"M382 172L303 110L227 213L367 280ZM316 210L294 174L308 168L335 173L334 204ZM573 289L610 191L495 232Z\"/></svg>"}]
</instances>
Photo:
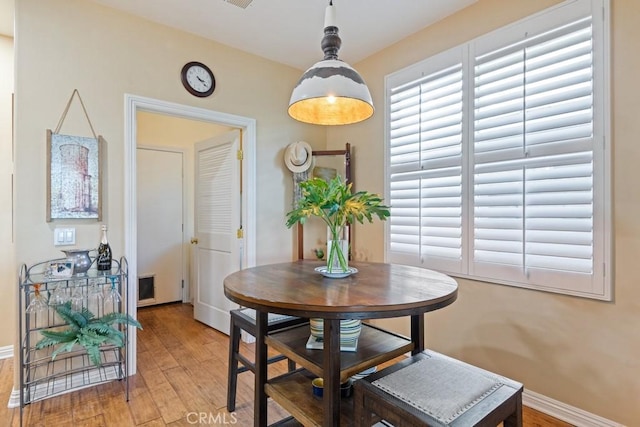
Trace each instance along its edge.
<instances>
[{"instance_id":1,"label":"left-hand white plantation shutter panel, nearer the hanging lamp","mask_svg":"<svg viewBox=\"0 0 640 427\"><path fill-rule=\"evenodd\" d=\"M391 88L389 121L390 254L394 262L462 262L461 50L437 69Z\"/></svg>"}]
</instances>

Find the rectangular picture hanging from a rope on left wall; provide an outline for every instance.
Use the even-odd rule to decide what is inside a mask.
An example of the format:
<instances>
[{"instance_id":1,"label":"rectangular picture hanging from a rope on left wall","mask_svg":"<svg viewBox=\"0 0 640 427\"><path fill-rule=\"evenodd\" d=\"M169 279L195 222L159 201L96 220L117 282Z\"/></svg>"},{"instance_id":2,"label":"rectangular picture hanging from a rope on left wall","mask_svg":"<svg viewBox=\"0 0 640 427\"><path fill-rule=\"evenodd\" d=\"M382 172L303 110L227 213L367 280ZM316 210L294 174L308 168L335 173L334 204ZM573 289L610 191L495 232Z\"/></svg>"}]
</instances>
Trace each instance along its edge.
<instances>
[{"instance_id":1,"label":"rectangular picture hanging from a rope on left wall","mask_svg":"<svg viewBox=\"0 0 640 427\"><path fill-rule=\"evenodd\" d=\"M104 140L47 130L47 222L102 220Z\"/></svg>"}]
</instances>

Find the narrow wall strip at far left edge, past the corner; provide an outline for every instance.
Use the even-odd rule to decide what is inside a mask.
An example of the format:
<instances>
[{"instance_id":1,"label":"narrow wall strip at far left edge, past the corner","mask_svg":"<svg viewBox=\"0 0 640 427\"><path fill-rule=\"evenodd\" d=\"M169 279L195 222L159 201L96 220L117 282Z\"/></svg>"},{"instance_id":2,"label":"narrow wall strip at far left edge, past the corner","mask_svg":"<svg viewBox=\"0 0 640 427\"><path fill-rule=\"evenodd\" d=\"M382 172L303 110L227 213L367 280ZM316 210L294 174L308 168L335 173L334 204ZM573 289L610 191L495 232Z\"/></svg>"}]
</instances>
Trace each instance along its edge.
<instances>
[{"instance_id":1,"label":"narrow wall strip at far left edge, past the corner","mask_svg":"<svg viewBox=\"0 0 640 427\"><path fill-rule=\"evenodd\" d=\"M18 267L11 229L13 39L4 36L0 36L0 76L0 313L15 324ZM13 345L14 340L12 328L0 328L0 347Z\"/></svg>"}]
</instances>

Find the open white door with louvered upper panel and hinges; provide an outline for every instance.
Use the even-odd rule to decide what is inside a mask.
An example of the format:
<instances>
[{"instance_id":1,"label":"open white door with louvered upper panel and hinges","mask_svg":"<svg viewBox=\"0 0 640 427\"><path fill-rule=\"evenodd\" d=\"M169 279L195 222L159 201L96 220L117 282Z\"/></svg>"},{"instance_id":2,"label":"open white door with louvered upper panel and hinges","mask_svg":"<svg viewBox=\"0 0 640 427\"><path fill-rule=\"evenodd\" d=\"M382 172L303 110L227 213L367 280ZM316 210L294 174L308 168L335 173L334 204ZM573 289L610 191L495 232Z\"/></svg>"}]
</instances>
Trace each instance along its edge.
<instances>
[{"instance_id":1,"label":"open white door with louvered upper panel and hinges","mask_svg":"<svg viewBox=\"0 0 640 427\"><path fill-rule=\"evenodd\" d=\"M229 310L223 279L240 269L241 228L240 131L195 146L195 240L193 249L194 317L229 333Z\"/></svg>"}]
</instances>

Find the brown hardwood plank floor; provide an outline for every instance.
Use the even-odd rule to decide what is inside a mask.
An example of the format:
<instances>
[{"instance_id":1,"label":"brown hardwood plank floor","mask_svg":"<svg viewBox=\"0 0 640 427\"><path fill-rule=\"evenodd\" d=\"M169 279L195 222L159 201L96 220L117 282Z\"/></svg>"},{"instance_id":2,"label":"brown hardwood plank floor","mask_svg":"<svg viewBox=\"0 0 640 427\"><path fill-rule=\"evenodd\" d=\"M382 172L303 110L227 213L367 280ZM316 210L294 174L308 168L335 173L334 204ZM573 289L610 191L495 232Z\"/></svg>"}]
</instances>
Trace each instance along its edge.
<instances>
[{"instance_id":1,"label":"brown hardwood plank floor","mask_svg":"<svg viewBox=\"0 0 640 427\"><path fill-rule=\"evenodd\" d=\"M138 311L138 373L111 382L27 405L23 425L42 427L126 427L253 425L253 375L238 379L236 411L226 410L229 339L193 320L189 304L147 307ZM252 345L242 343L252 353ZM8 409L13 387L13 359L0 360L0 424L19 426L19 408ZM269 366L270 375L286 371L286 362ZM269 423L287 413L269 402ZM570 427L530 408L526 427Z\"/></svg>"}]
</instances>

